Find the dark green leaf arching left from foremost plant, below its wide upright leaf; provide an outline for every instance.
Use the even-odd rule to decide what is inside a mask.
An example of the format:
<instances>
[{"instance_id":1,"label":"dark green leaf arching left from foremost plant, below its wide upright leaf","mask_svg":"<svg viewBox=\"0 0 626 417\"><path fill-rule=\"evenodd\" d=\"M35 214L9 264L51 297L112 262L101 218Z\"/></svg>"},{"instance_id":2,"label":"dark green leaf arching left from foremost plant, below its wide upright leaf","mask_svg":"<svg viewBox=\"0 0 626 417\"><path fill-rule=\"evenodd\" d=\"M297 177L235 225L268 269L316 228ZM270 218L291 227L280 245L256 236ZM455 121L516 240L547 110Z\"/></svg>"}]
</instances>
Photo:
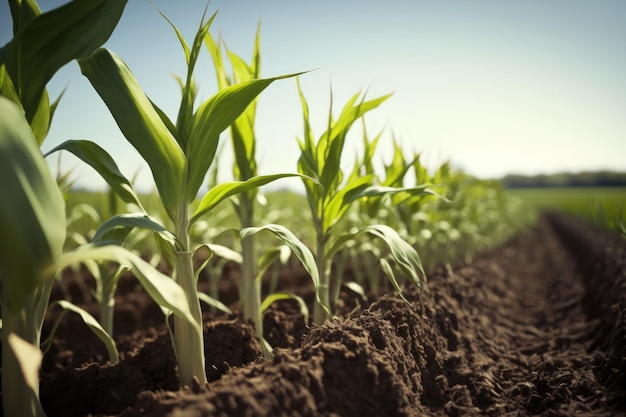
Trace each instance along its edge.
<instances>
[{"instance_id":1,"label":"dark green leaf arching left from foremost plant, below its wide upright leaf","mask_svg":"<svg viewBox=\"0 0 626 417\"><path fill-rule=\"evenodd\" d=\"M45 156L60 150L71 152L74 156L95 169L123 202L134 204L140 210L145 211L132 184L120 172L117 164L107 151L88 140L68 140L52 149Z\"/></svg>"}]
</instances>

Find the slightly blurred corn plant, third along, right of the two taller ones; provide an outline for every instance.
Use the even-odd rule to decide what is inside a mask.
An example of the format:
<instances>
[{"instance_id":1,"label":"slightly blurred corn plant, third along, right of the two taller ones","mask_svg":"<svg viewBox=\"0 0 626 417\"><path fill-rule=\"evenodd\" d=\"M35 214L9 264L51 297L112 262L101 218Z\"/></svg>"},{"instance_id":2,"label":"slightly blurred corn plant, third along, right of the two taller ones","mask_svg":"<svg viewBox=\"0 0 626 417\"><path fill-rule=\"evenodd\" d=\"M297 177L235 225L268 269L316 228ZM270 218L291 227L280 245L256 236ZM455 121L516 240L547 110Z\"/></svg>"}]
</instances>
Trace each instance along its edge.
<instances>
[{"instance_id":1,"label":"slightly blurred corn plant, third along, right of the two taller ones","mask_svg":"<svg viewBox=\"0 0 626 417\"><path fill-rule=\"evenodd\" d=\"M417 252L405 240L400 238L398 233L391 227L383 224L372 224L340 233L337 232L337 225L346 216L352 203L360 198L371 198L409 191L424 193L427 192L427 188L414 187L409 189L373 185L374 174L358 175L358 170L356 169L352 171L350 177L344 178L340 162L348 131L354 122L360 119L367 111L378 107L389 96L365 101L364 98L359 100L359 94L356 94L344 106L336 121L332 115L331 97L328 128L316 142L309 123L308 105L299 83L298 90L304 118L304 137L298 141L301 149L298 170L301 174L318 179L322 185L322 187L317 187L314 184L304 182L315 228L316 262L320 271L320 302L315 305L313 321L321 323L332 315L328 308L325 307L330 306L332 310L336 304L336 300L331 299L331 286L336 288L341 284L341 277L331 280L333 256L347 242L354 240L358 235L369 234L379 238L387 245L393 262L403 274L415 285L422 285L425 278ZM394 288L401 294L389 261L381 258L380 265ZM335 290L333 294L338 293Z\"/></svg>"}]
</instances>

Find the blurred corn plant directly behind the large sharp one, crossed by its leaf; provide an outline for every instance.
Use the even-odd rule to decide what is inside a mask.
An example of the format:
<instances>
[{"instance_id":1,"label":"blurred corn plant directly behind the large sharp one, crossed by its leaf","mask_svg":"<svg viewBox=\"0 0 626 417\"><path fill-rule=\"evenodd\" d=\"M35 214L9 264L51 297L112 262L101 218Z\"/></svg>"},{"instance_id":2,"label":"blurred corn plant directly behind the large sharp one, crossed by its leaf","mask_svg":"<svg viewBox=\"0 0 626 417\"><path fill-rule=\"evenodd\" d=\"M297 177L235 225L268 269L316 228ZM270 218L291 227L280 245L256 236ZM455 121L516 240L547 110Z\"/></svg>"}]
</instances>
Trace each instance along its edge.
<instances>
[{"instance_id":1,"label":"blurred corn plant directly behind the large sharp one, crossed by its leaf","mask_svg":"<svg viewBox=\"0 0 626 417\"><path fill-rule=\"evenodd\" d=\"M210 33L207 33L204 42L211 53L213 64L217 72L218 87L224 90L235 83L249 82L260 77L261 72L261 54L260 54L260 25L257 27L256 38L254 42L254 51L250 64L246 63L241 57L226 49L226 54L232 68L232 74L227 74L226 65L222 56L222 48L216 42ZM233 165L235 179L247 181L257 175L256 162L256 135L254 131L254 123L256 119L256 100L251 102L242 115L235 120L230 126L231 142L235 155L235 164ZM284 174L297 176L298 174ZM242 228L249 228L255 225L255 202L257 201L258 189L254 188L240 193L233 199L235 212L239 217ZM279 231L281 227L274 225L267 228L270 232ZM286 233L284 230L277 232L279 239L295 236ZM294 240L290 244L299 245L299 240ZM263 272L269 265L267 264L267 256L264 256L261 265L261 271L257 271L257 249L255 245L254 234L246 234L241 239L241 249L243 262L241 264L241 281L239 287L239 299L241 309L245 319L251 320L257 332L257 336L263 343L266 353L269 352L269 346L263 340L263 309L261 304L261 280ZM271 254L268 256L272 256ZM314 281L315 282L315 281ZM285 296L285 294L282 294ZM292 295L294 298L295 295ZM300 305L304 305L302 300L298 301Z\"/></svg>"}]
</instances>

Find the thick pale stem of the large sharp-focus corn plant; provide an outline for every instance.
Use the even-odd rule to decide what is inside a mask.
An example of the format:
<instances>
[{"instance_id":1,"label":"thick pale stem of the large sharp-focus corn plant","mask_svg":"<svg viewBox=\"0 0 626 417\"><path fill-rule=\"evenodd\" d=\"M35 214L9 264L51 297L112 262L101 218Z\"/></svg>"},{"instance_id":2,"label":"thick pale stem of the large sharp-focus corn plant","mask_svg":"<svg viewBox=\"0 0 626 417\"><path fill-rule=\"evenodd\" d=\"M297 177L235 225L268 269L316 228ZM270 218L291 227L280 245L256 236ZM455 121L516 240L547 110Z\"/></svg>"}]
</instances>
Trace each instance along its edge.
<instances>
[{"instance_id":1,"label":"thick pale stem of the large sharp-focus corn plant","mask_svg":"<svg viewBox=\"0 0 626 417\"><path fill-rule=\"evenodd\" d=\"M204 369L204 338L202 336L202 311L198 299L198 288L193 273L192 253L189 250L189 208L179 209L176 236L181 250L175 252L174 276L185 291L191 314L198 324L195 328L183 317L174 315L174 344L178 360L180 386L191 386L193 378L201 385L207 383Z\"/></svg>"}]
</instances>

